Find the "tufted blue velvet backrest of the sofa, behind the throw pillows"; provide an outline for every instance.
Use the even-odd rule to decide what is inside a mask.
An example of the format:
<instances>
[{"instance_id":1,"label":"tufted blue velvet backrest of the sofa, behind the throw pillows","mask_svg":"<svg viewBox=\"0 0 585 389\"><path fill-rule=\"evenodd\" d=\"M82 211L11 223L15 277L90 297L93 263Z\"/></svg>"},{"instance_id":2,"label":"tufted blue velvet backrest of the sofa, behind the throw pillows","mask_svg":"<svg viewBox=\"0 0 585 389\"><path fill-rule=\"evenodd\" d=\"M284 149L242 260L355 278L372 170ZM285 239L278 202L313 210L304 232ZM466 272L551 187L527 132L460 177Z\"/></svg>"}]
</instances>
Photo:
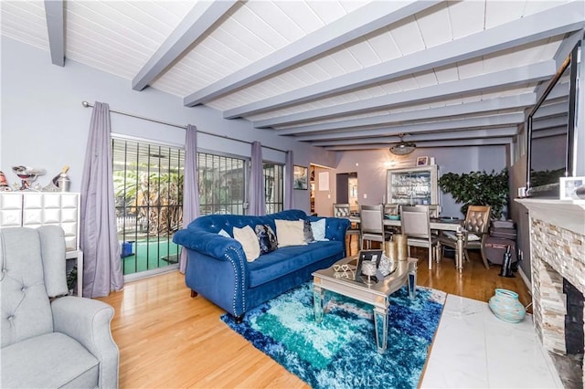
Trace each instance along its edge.
<instances>
[{"instance_id":1,"label":"tufted blue velvet backrest of the sofa, behind the throw pillows","mask_svg":"<svg viewBox=\"0 0 585 389\"><path fill-rule=\"evenodd\" d=\"M306 219L307 215L300 209L288 209L267 216L248 216L248 215L207 215L199 216L193 220L187 228L202 228L208 232L218 233L223 229L233 237L233 228L268 224L276 231L275 219L282 220L299 220Z\"/></svg>"}]
</instances>

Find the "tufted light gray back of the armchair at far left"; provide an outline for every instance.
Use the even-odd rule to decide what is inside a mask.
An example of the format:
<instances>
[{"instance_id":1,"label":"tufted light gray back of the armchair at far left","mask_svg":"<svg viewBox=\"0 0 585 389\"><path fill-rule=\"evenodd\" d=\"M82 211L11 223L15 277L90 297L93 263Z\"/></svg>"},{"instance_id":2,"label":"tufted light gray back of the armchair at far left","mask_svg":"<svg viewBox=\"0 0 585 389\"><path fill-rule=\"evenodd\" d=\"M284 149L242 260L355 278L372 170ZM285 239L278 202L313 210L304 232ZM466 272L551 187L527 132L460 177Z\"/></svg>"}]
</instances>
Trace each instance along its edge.
<instances>
[{"instance_id":1,"label":"tufted light gray back of the armchair at far left","mask_svg":"<svg viewBox=\"0 0 585 389\"><path fill-rule=\"evenodd\" d=\"M49 297L67 294L59 226L0 229L2 347L53 331Z\"/></svg>"}]
</instances>

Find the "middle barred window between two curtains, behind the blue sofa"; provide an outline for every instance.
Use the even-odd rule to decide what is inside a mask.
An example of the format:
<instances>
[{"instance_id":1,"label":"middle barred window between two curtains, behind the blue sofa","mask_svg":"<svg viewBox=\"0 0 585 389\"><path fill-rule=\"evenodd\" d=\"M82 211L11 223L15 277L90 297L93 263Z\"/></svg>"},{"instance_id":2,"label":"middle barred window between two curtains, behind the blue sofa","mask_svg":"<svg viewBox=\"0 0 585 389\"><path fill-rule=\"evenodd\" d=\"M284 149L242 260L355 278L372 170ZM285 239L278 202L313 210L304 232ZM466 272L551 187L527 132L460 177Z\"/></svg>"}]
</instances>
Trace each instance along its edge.
<instances>
[{"instance_id":1,"label":"middle barred window between two curtains, behind the blue sofa","mask_svg":"<svg viewBox=\"0 0 585 389\"><path fill-rule=\"evenodd\" d=\"M246 161L197 152L199 213L244 214Z\"/></svg>"}]
</instances>

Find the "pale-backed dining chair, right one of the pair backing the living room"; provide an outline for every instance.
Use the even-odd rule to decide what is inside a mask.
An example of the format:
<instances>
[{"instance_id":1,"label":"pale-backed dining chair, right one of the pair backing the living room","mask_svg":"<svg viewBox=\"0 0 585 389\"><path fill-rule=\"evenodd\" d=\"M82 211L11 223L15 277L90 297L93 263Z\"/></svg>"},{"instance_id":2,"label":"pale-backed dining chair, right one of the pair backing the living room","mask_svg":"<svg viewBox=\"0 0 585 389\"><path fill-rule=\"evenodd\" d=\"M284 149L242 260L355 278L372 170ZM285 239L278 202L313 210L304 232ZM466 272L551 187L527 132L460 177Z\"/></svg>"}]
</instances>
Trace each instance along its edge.
<instances>
[{"instance_id":1,"label":"pale-backed dining chair, right one of the pair backing the living room","mask_svg":"<svg viewBox=\"0 0 585 389\"><path fill-rule=\"evenodd\" d=\"M441 246L439 237L431 234L431 218L427 205L402 205L400 210L400 226L402 234L407 236L407 245L410 247L426 247L429 250L429 269L432 268L432 259L439 261Z\"/></svg>"}]
</instances>

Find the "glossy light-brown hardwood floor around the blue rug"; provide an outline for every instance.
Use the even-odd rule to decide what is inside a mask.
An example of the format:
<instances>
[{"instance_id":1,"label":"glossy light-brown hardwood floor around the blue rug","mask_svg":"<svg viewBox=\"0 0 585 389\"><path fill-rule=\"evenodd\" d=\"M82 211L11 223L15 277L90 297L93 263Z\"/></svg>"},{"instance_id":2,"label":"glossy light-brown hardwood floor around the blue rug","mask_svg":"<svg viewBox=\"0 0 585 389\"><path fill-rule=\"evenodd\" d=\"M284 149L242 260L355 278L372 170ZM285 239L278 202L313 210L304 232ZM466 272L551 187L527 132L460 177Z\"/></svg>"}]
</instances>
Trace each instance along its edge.
<instances>
[{"instance_id":1,"label":"glossy light-brown hardwood floor around the blue rug","mask_svg":"<svg viewBox=\"0 0 585 389\"><path fill-rule=\"evenodd\" d=\"M525 306L530 302L518 275L498 277L500 267L484 268L475 253L462 274L451 258L429 270L425 249L413 255L420 259L420 286L483 301L495 288L505 288L518 292ZM202 297L192 299L178 271L129 282L98 300L115 309L112 333L120 348L121 388L308 387L229 330L219 320L223 310Z\"/></svg>"}]
</instances>

